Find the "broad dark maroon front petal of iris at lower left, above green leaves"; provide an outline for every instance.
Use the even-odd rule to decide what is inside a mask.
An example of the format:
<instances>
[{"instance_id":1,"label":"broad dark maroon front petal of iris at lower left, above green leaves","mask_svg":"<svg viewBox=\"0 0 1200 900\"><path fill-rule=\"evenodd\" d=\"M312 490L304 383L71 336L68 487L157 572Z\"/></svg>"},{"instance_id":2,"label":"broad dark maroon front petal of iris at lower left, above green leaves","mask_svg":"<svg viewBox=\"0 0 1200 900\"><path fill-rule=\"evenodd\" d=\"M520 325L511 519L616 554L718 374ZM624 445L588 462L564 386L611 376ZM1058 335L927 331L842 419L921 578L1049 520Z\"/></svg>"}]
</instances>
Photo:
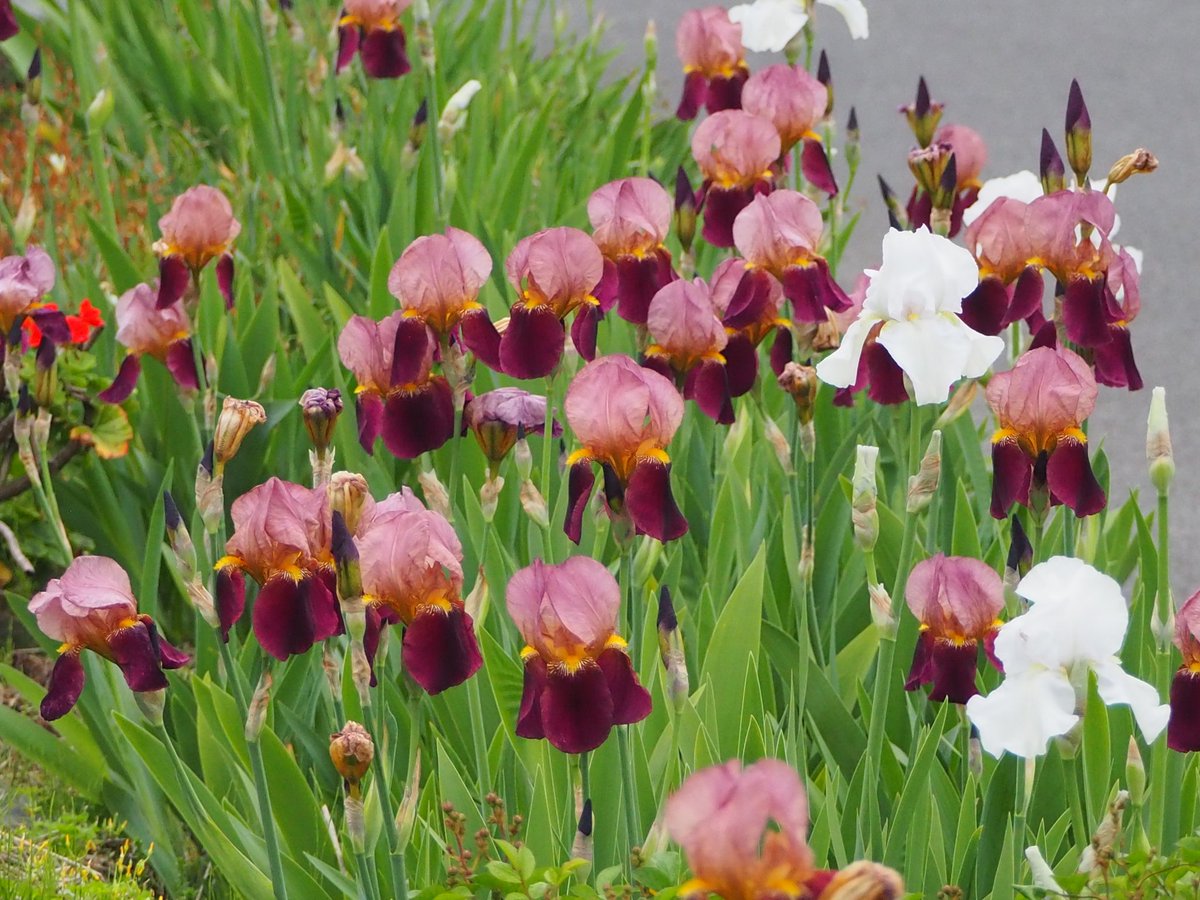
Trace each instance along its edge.
<instances>
[{"instance_id":1,"label":"broad dark maroon front petal of iris at lower left, above green leaves","mask_svg":"<svg viewBox=\"0 0 1200 900\"><path fill-rule=\"evenodd\" d=\"M338 632L337 601L322 578L286 575L268 580L252 613L254 637L277 660L305 653Z\"/></svg>"}]
</instances>

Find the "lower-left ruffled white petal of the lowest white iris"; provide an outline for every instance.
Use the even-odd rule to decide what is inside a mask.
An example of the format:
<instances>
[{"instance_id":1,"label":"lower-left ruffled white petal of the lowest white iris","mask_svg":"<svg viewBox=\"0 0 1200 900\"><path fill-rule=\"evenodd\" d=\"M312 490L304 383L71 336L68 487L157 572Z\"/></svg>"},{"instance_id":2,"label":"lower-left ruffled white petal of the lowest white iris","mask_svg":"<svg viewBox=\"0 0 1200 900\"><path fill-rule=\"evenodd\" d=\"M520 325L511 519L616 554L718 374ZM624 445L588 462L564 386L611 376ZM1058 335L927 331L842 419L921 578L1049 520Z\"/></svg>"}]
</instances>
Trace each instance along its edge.
<instances>
[{"instance_id":1,"label":"lower-left ruffled white petal of the lowest white iris","mask_svg":"<svg viewBox=\"0 0 1200 900\"><path fill-rule=\"evenodd\" d=\"M1032 670L1004 679L991 694L967 701L967 718L979 743L995 757L1010 752L1030 758L1079 721L1075 690L1063 672Z\"/></svg>"}]
</instances>

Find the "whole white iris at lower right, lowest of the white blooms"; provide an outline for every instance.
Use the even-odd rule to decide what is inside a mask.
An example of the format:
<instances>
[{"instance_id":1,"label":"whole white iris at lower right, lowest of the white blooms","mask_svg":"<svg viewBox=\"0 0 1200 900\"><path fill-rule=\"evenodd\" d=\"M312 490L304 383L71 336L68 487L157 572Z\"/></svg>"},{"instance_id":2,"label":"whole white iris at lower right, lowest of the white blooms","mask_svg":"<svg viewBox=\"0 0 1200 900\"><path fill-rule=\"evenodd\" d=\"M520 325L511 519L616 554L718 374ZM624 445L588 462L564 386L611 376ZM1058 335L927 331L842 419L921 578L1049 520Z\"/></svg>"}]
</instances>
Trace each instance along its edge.
<instances>
[{"instance_id":1,"label":"whole white iris at lower right, lowest of the white blooms","mask_svg":"<svg viewBox=\"0 0 1200 900\"><path fill-rule=\"evenodd\" d=\"M1033 566L1016 593L1031 606L996 636L1004 680L967 701L983 748L997 757L1006 751L1025 758L1044 754L1051 738L1079 721L1088 670L1100 698L1129 706L1146 740L1157 738L1170 707L1117 659L1129 628L1121 586L1082 560L1052 557Z\"/></svg>"}]
</instances>

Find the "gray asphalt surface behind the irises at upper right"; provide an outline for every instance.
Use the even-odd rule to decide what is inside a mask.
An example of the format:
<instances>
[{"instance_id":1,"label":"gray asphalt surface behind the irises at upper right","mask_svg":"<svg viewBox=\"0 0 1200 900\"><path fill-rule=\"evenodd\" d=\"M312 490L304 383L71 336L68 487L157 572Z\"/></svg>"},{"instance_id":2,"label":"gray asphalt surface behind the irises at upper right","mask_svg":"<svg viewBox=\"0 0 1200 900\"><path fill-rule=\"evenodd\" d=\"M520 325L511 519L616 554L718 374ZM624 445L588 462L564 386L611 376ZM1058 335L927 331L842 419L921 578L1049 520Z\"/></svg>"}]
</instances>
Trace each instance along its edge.
<instances>
[{"instance_id":1,"label":"gray asphalt surface behind the irises at upper right","mask_svg":"<svg viewBox=\"0 0 1200 900\"><path fill-rule=\"evenodd\" d=\"M841 17L817 6L817 46L828 50L844 122L851 104L863 134L856 202L866 208L842 268L846 286L856 268L874 265L887 229L874 176L881 173L907 194L905 155L912 134L896 107L911 102L925 76L942 121L961 122L988 142L985 178L1037 170L1043 127L1062 146L1070 79L1078 78L1092 116L1093 174L1103 176L1121 155L1146 146L1159 160L1156 174L1121 186L1118 241L1145 251L1142 312L1133 326L1134 350L1146 389L1102 388L1091 419L1112 462L1112 502L1139 491L1153 503L1145 464L1150 388L1168 391L1177 476L1172 492L1172 586L1176 602L1200 588L1200 4L1171 0L865 0L870 38L852 41ZM660 40L659 85L664 110L682 84L674 55L679 17L702 2L564 0L576 23L590 6L622 48L620 65L642 65L642 36L653 18ZM732 4L728 4L732 5ZM751 67L782 61L752 55Z\"/></svg>"}]
</instances>

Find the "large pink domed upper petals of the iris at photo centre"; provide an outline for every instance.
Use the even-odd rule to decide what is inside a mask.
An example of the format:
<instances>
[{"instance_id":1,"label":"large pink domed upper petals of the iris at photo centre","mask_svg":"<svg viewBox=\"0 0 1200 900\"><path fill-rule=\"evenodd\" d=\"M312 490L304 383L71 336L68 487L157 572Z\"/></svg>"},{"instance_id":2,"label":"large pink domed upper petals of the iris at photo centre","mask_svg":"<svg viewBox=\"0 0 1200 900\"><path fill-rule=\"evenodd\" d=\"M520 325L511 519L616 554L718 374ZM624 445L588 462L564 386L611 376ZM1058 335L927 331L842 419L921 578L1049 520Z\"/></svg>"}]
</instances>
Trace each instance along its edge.
<instances>
[{"instance_id":1,"label":"large pink domed upper petals of the iris at photo centre","mask_svg":"<svg viewBox=\"0 0 1200 900\"><path fill-rule=\"evenodd\" d=\"M598 456L664 448L683 421L674 385L620 355L584 366L566 389L564 407L580 443Z\"/></svg>"}]
</instances>

